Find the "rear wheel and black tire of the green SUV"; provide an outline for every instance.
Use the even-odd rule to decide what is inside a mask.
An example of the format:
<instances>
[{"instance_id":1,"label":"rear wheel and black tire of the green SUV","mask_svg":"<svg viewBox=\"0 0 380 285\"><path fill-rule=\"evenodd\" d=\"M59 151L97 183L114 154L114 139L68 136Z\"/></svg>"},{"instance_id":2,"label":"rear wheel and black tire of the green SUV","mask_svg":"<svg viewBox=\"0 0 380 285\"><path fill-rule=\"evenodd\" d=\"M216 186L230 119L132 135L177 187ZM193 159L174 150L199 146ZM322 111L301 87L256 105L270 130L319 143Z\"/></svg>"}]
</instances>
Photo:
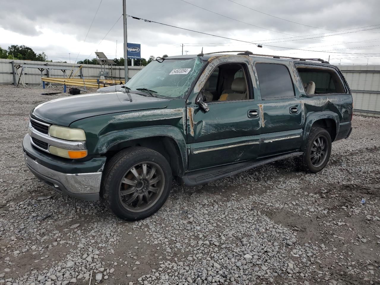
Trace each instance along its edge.
<instances>
[{"instance_id":1,"label":"rear wheel and black tire of the green SUV","mask_svg":"<svg viewBox=\"0 0 380 285\"><path fill-rule=\"evenodd\" d=\"M323 141L323 144L319 144L318 139ZM321 149L321 145L324 145L323 149ZM295 158L298 168L309 173L321 171L326 166L331 154L331 136L329 132L324 128L313 127L310 130L303 151L304 154Z\"/></svg>"}]
</instances>

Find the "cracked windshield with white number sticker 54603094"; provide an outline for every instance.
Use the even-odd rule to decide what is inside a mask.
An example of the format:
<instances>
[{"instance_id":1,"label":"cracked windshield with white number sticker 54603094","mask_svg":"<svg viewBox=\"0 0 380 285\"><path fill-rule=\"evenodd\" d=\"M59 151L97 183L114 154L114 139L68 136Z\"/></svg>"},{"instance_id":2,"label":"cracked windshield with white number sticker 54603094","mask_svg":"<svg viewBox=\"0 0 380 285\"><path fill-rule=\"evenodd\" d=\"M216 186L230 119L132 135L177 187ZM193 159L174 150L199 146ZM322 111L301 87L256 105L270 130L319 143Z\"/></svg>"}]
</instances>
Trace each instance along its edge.
<instances>
[{"instance_id":1,"label":"cracked windshield with white number sticker 54603094","mask_svg":"<svg viewBox=\"0 0 380 285\"><path fill-rule=\"evenodd\" d=\"M126 86L154 97L184 98L204 64L199 57L165 59L162 62L154 60L133 76Z\"/></svg>"}]
</instances>

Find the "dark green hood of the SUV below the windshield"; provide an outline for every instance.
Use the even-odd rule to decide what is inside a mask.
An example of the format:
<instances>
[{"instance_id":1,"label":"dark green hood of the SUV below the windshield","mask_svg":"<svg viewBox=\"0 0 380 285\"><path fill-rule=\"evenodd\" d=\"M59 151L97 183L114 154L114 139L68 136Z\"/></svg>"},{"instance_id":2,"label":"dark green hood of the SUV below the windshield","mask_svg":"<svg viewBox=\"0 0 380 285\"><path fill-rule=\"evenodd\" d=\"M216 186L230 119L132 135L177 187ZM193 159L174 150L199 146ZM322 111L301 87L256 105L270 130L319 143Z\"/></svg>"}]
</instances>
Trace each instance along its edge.
<instances>
[{"instance_id":1,"label":"dark green hood of the SUV below the windshield","mask_svg":"<svg viewBox=\"0 0 380 285\"><path fill-rule=\"evenodd\" d=\"M47 123L68 127L72 122L87 117L117 112L165 108L166 99L145 97L123 92L91 93L45 101L37 105L30 115Z\"/></svg>"}]
</instances>

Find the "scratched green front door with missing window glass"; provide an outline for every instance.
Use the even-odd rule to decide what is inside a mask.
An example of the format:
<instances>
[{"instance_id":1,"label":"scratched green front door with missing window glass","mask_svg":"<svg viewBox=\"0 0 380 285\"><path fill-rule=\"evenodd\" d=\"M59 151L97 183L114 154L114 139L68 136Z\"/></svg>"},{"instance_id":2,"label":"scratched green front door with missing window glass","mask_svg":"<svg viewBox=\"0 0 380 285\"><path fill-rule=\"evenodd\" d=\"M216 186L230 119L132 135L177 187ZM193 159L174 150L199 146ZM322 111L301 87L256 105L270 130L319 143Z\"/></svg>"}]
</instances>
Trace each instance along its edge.
<instances>
[{"instance_id":1,"label":"scratched green front door with missing window glass","mask_svg":"<svg viewBox=\"0 0 380 285\"><path fill-rule=\"evenodd\" d=\"M213 94L207 102L209 112L193 103L187 106L189 170L252 160L258 155L260 110L253 96L252 67L243 60L220 64L209 72L212 80L218 72L216 90L205 90Z\"/></svg>"}]
</instances>

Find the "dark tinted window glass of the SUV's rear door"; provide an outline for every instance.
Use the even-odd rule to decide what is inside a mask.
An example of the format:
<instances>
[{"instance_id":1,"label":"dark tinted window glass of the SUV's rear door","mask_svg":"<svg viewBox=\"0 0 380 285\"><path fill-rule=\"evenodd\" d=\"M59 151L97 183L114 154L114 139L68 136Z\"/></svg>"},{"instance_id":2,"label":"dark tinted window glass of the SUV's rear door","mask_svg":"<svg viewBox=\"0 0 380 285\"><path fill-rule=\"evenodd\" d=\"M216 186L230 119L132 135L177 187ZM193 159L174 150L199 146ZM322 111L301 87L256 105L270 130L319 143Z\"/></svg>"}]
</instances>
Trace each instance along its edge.
<instances>
[{"instance_id":1,"label":"dark tinted window glass of the SUV's rear door","mask_svg":"<svg viewBox=\"0 0 380 285\"><path fill-rule=\"evenodd\" d=\"M261 98L293 97L294 89L288 68L282 64L256 63Z\"/></svg>"}]
</instances>

